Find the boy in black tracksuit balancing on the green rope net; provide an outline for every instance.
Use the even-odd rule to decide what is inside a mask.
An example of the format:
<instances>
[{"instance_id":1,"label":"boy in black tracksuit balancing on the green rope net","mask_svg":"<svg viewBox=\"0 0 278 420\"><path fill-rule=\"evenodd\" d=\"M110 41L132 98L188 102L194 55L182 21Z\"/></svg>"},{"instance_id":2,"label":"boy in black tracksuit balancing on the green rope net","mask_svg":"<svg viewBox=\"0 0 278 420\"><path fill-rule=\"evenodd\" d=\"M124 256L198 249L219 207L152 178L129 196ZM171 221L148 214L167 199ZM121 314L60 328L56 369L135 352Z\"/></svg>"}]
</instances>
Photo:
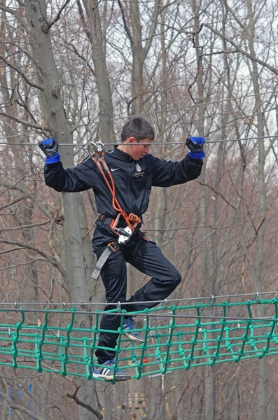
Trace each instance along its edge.
<instances>
[{"instance_id":1,"label":"boy in black tracksuit balancing on the green rope net","mask_svg":"<svg viewBox=\"0 0 278 420\"><path fill-rule=\"evenodd\" d=\"M166 299L181 282L181 274L165 258L160 248L144 238L140 231L140 221L148 208L152 186L169 187L196 179L201 173L202 158L204 158L203 137L186 139L190 153L180 162L160 160L149 154L154 137L153 127L147 120L133 118L123 126L120 144L114 146L113 151L106 152L105 162L115 183L115 195L119 206L112 204L113 194L96 160L89 156L74 169L64 169L57 153L59 147L57 140L46 139L39 143L39 147L47 157L44 169L46 185L56 191L68 193L89 188L94 190L100 216L97 218L92 248L97 255L97 265L102 266L99 269L107 302L116 304L126 301L126 262L130 262L140 272L151 276L150 281L130 297L127 301L130 304L122 305L122 309L126 309L127 312L141 311L155 306L155 303L148 301ZM109 183L111 185L111 179ZM118 217L116 224L115 220L120 213L119 207L123 213ZM129 223L125 215L130 214L132 218ZM131 220L139 222L137 227L132 229L133 232L127 229L127 224L132 228ZM131 232L130 235L127 230ZM121 242L118 239L120 232L124 233ZM108 252L108 256L107 245L113 248L113 251ZM113 305L107 305L106 310L109 309L113 309ZM117 314L107 314L102 317L100 328L103 330L117 331L119 326L120 316ZM134 320L128 314L124 319L123 330L126 337L134 342L144 341L142 335L134 331ZM117 338L117 332L101 332L99 346L113 349ZM101 366L95 368L94 376L112 380L115 351L97 349L96 356ZM130 379L130 375L125 370L116 372L116 381L127 379Z\"/></svg>"}]
</instances>

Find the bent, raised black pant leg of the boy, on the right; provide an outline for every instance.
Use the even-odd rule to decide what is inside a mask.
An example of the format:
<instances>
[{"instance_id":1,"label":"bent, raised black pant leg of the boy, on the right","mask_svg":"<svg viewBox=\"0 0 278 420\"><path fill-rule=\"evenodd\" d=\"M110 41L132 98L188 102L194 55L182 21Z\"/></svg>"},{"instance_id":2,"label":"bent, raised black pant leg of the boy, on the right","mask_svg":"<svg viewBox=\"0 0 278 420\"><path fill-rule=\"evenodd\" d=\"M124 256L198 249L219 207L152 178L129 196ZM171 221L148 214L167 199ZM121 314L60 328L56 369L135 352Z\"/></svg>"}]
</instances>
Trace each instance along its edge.
<instances>
[{"instance_id":1,"label":"bent, raised black pant leg of the boy, on the right","mask_svg":"<svg viewBox=\"0 0 278 420\"><path fill-rule=\"evenodd\" d=\"M154 307L153 303L143 303L148 300L164 300L176 286L181 283L181 274L174 265L167 260L161 249L152 241L141 239L134 253L125 252L125 260L130 262L140 272L151 276L148 283L144 284L134 293L128 302L142 302L140 304L126 305L127 311L141 311Z\"/></svg>"}]
</instances>

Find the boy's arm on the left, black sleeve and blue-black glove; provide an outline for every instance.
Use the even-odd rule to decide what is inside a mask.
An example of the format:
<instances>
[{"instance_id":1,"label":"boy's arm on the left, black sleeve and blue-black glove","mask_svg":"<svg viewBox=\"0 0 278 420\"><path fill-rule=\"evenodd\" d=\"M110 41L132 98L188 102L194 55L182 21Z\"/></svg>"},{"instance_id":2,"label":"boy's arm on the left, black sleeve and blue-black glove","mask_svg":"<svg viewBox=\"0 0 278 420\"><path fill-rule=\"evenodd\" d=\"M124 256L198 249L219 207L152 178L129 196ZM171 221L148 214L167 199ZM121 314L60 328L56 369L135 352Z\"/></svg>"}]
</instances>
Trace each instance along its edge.
<instances>
[{"instance_id":1,"label":"boy's arm on the left, black sleeve and blue-black glove","mask_svg":"<svg viewBox=\"0 0 278 420\"><path fill-rule=\"evenodd\" d=\"M64 169L58 153L59 144L55 137L39 142L39 148L46 155L44 178L48 187L64 193L78 193L95 186L92 168L81 165L74 169ZM90 176L88 176L90 172Z\"/></svg>"}]
</instances>

